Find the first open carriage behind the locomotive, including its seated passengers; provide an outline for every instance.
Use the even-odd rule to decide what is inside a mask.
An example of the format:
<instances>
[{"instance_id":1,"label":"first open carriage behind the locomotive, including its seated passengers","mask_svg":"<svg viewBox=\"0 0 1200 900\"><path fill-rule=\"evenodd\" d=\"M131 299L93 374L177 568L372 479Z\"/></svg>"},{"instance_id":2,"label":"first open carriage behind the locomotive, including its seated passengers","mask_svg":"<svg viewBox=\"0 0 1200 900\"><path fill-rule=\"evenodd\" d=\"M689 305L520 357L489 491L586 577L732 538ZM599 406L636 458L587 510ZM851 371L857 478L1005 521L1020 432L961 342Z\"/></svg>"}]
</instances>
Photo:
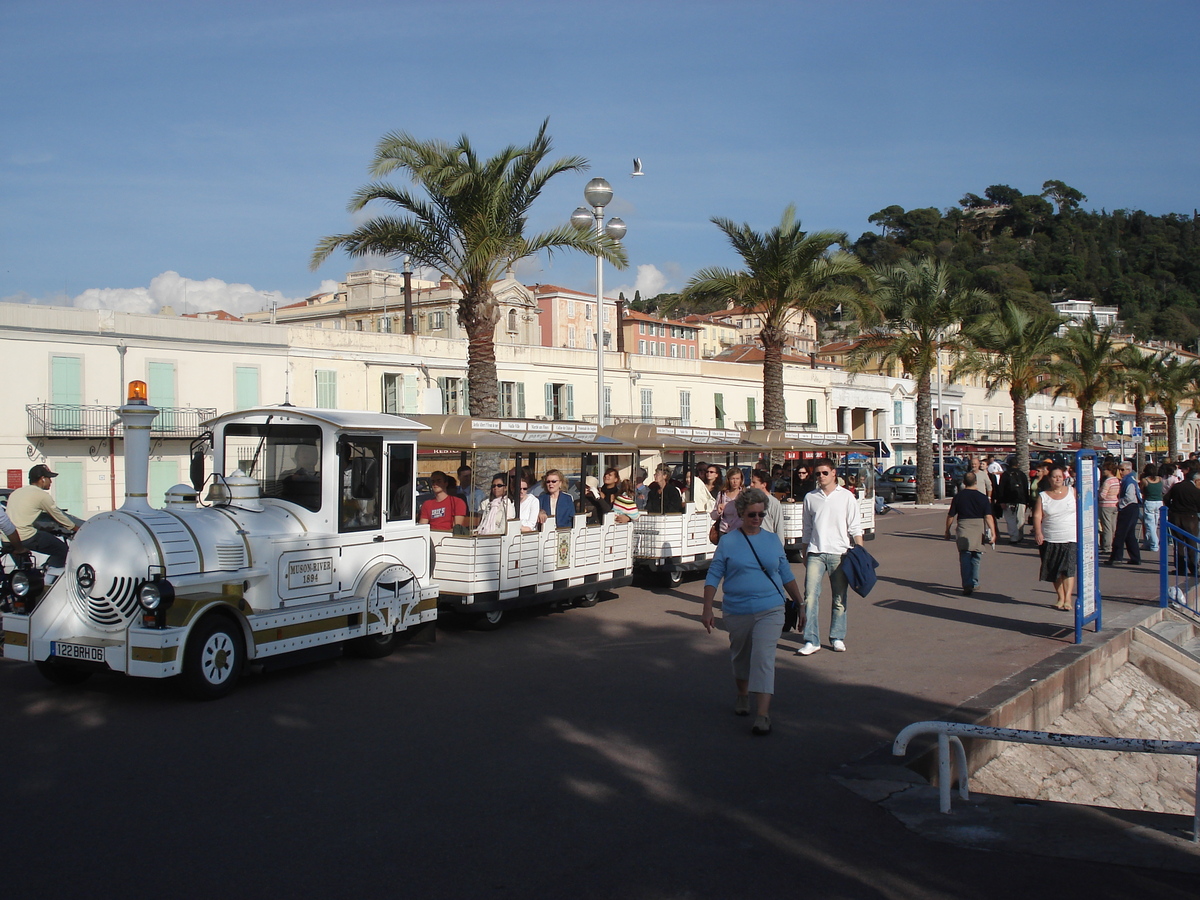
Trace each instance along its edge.
<instances>
[{"instance_id":1,"label":"first open carriage behind the locomotive, including its seated passengers","mask_svg":"<svg viewBox=\"0 0 1200 900\"><path fill-rule=\"evenodd\" d=\"M601 479L605 469L616 484L629 479L636 446L588 422L414 419L428 428L418 506L432 528L443 610L491 629L509 610L590 606L632 580L632 523L613 511Z\"/></svg>"}]
</instances>

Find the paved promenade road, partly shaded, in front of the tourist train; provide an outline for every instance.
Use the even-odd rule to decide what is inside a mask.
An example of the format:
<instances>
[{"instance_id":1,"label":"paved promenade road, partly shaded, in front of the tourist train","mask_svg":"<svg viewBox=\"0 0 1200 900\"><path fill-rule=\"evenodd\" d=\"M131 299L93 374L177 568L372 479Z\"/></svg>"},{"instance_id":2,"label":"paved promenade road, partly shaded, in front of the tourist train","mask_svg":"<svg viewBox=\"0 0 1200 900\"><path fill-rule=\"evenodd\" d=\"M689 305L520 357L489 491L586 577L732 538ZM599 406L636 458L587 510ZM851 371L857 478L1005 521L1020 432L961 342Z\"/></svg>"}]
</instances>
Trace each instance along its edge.
<instances>
[{"instance_id":1,"label":"paved promenade road, partly shaded, in front of the tourist train","mask_svg":"<svg viewBox=\"0 0 1200 900\"><path fill-rule=\"evenodd\" d=\"M206 704L0 665L5 896L1194 899L1182 875L929 842L828 776L1070 638L1031 547L960 596L943 521L880 521L850 652L785 640L768 738L731 713L698 581ZM1105 577L1154 589L1150 566Z\"/></svg>"}]
</instances>

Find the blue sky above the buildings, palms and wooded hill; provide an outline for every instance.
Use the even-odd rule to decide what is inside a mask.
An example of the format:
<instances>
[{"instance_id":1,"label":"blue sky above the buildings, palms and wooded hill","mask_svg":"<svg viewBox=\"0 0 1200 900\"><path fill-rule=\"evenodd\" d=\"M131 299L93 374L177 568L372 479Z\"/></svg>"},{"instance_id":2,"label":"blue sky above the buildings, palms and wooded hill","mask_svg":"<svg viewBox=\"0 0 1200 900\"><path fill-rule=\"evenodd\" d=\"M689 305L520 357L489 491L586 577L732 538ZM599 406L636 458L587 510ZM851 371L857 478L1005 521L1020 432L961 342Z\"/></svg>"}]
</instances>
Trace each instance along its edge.
<instances>
[{"instance_id":1,"label":"blue sky above the buildings, palms and wooded hill","mask_svg":"<svg viewBox=\"0 0 1200 900\"><path fill-rule=\"evenodd\" d=\"M630 258L611 290L737 265L709 218L766 229L788 203L851 239L890 204L1048 179L1088 209L1190 214L1198 37L1196 0L5 0L0 299L304 298L362 268L308 257L353 226L380 136L490 154L547 116L556 154L592 170L551 182L530 226L607 178ZM595 278L578 256L518 274Z\"/></svg>"}]
</instances>

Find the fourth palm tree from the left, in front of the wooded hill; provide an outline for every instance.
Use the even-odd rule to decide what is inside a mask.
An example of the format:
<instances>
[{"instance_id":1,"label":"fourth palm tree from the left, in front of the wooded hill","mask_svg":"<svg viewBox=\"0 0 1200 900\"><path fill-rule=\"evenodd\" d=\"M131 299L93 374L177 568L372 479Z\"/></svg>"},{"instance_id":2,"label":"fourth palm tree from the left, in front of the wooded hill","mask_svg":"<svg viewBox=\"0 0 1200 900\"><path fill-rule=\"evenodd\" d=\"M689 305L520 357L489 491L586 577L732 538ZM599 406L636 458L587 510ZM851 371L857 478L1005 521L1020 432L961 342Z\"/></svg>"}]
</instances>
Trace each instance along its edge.
<instances>
[{"instance_id":1,"label":"fourth palm tree from the left, in front of the wooded hill","mask_svg":"<svg viewBox=\"0 0 1200 900\"><path fill-rule=\"evenodd\" d=\"M983 376L989 396L1008 388L1013 401L1016 464L1030 470L1030 420L1026 401L1044 386L1046 366L1057 353L1063 318L1034 312L1006 301L992 313L978 316L964 328L970 349L954 367L954 376Z\"/></svg>"}]
</instances>

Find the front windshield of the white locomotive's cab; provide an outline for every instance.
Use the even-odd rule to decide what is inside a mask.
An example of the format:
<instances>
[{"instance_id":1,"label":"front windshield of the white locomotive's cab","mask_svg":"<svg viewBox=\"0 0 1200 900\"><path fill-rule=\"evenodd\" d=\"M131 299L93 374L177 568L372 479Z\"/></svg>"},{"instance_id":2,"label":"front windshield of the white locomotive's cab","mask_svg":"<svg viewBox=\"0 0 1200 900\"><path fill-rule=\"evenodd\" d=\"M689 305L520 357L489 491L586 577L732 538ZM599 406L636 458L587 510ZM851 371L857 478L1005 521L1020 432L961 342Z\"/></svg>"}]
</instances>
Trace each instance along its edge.
<instances>
[{"instance_id":1,"label":"front windshield of the white locomotive's cab","mask_svg":"<svg viewBox=\"0 0 1200 900\"><path fill-rule=\"evenodd\" d=\"M239 468L257 479L263 497L320 510L319 425L229 425L224 460L227 469Z\"/></svg>"}]
</instances>

